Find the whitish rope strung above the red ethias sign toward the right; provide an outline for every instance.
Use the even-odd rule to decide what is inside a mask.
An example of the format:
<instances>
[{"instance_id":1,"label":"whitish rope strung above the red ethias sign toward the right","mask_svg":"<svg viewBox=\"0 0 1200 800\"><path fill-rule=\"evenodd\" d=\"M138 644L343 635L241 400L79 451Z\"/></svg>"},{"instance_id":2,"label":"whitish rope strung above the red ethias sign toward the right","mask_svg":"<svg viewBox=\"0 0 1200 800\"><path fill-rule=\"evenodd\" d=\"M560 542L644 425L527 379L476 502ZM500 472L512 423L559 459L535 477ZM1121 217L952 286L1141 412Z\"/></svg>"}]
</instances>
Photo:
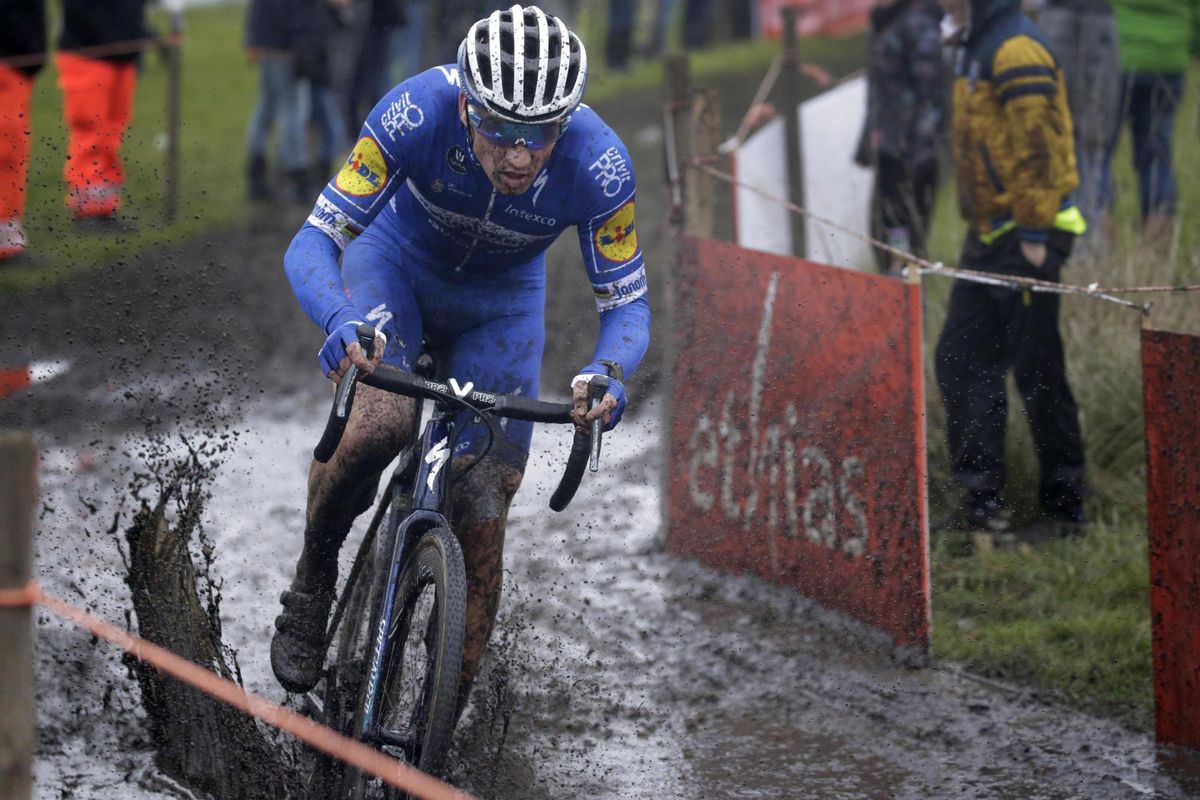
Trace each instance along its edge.
<instances>
[{"instance_id":1,"label":"whitish rope strung above the red ethias sign toward the right","mask_svg":"<svg viewBox=\"0 0 1200 800\"><path fill-rule=\"evenodd\" d=\"M1124 308L1130 308L1146 315L1150 314L1150 303L1140 305L1132 302L1129 300L1122 300L1121 297L1115 297L1112 295L1121 293L1200 291L1200 285L1193 285L1193 284L1180 285L1180 287L1133 287L1133 288L1110 289L1110 288L1102 288L1098 284L1092 283L1086 287L1078 287L1078 285L1072 285L1069 283L1055 283L1054 281L1042 281L1039 278L1028 278L1016 275L997 275L994 272L979 272L977 270L964 270L961 267L946 266L942 263L930 261L928 259L920 258L919 255L914 255L913 253L900 249L899 247L893 247L892 245L881 242L877 239L863 235L857 230L852 230L838 222L834 222L833 219L828 219L818 213L809 211L804 206L775 197L774 194L770 194L758 188L757 186L751 186L749 184L739 181L728 173L722 173L715 167L712 167L708 163L710 158L712 158L710 156L692 158L688 163L688 166L692 169L698 169L701 172L708 173L710 176L725 181L732 186L738 186L746 191L754 192L755 194L757 194L758 197L763 198L769 203L784 206L785 209L792 211L793 213L809 217L810 219L814 219L820 224L823 224L828 228L844 233L847 236L851 236L852 239L857 239L860 242L864 242L871 247L881 249L884 253L894 255L895 258L902 261L916 265L920 275L946 275L961 281L972 281L974 283L1007 287L1009 289L1026 289L1030 291L1043 291L1048 294L1082 295L1087 297L1097 297L1099 300L1104 300L1105 302L1111 302L1117 306L1122 306ZM910 267L905 267L905 271L907 272L908 269Z\"/></svg>"}]
</instances>

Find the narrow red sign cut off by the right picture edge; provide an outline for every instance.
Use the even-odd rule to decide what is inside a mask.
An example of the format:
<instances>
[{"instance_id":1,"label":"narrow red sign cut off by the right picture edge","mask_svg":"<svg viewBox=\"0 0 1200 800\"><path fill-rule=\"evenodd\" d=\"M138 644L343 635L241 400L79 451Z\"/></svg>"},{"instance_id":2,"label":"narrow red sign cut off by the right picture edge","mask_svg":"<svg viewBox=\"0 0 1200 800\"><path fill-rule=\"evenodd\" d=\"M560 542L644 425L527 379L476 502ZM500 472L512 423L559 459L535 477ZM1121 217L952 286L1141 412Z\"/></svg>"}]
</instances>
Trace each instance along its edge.
<instances>
[{"instance_id":1,"label":"narrow red sign cut off by the right picture edge","mask_svg":"<svg viewBox=\"0 0 1200 800\"><path fill-rule=\"evenodd\" d=\"M1142 331L1154 718L1200 748L1200 338Z\"/></svg>"}]
</instances>

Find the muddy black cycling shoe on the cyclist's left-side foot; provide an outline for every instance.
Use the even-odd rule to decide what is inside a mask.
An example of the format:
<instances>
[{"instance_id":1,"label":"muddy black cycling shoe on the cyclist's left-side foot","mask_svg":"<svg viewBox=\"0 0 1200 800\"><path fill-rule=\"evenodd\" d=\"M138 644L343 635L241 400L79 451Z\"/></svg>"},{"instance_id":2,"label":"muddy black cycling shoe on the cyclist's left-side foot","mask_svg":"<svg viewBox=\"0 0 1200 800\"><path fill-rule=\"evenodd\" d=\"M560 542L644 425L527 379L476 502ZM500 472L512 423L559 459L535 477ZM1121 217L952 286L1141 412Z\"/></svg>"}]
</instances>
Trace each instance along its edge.
<instances>
[{"instance_id":1,"label":"muddy black cycling shoe on the cyclist's left-side foot","mask_svg":"<svg viewBox=\"0 0 1200 800\"><path fill-rule=\"evenodd\" d=\"M325 666L325 625L334 593L292 589L280 602L283 613L275 619L271 669L283 688L302 694L317 685Z\"/></svg>"}]
</instances>

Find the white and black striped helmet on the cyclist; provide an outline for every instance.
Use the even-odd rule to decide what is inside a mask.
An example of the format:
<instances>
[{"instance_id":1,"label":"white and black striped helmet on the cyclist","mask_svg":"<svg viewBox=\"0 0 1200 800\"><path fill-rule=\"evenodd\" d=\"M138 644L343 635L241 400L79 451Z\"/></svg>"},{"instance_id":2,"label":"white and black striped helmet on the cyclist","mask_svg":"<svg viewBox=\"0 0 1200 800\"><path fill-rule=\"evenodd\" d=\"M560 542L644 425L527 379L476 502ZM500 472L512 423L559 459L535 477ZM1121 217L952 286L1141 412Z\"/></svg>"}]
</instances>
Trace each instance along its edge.
<instances>
[{"instance_id":1,"label":"white and black striped helmet on the cyclist","mask_svg":"<svg viewBox=\"0 0 1200 800\"><path fill-rule=\"evenodd\" d=\"M580 37L536 6L480 19L458 46L462 90L515 122L565 119L583 98L588 56Z\"/></svg>"}]
</instances>

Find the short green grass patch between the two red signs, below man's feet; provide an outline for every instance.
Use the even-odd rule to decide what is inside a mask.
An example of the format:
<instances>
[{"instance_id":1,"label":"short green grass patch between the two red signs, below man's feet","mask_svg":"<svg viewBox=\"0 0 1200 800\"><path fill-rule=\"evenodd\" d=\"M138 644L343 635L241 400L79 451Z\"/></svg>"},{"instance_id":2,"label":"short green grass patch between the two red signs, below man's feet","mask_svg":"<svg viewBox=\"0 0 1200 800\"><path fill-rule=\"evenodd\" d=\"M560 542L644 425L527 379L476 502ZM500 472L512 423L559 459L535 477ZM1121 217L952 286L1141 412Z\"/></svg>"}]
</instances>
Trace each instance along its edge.
<instances>
[{"instance_id":1,"label":"short green grass patch between the two red signs, below man's feet","mask_svg":"<svg viewBox=\"0 0 1200 800\"><path fill-rule=\"evenodd\" d=\"M1142 530L1136 518L1110 517L1079 541L968 559L935 539L937 656L1151 730Z\"/></svg>"}]
</instances>

